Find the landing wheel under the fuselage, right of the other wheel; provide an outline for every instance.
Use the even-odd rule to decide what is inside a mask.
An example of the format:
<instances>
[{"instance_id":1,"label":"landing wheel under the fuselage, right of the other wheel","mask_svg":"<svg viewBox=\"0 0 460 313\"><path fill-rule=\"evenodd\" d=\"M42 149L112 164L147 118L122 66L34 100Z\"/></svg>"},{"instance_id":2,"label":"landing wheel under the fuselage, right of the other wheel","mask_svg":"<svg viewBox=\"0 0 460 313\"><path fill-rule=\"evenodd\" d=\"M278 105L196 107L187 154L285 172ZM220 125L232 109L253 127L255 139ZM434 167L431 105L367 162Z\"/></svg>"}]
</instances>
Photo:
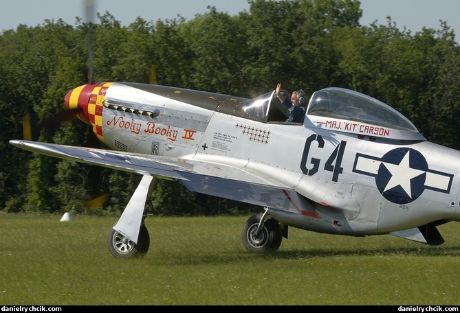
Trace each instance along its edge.
<instances>
[{"instance_id":1,"label":"landing wheel under the fuselage, right of the other wheel","mask_svg":"<svg viewBox=\"0 0 460 313\"><path fill-rule=\"evenodd\" d=\"M241 238L246 250L250 252L273 252L281 246L283 233L279 223L269 218L263 224L261 233L256 234L257 226L262 218L262 214L256 214L248 218L243 227Z\"/></svg>"}]
</instances>

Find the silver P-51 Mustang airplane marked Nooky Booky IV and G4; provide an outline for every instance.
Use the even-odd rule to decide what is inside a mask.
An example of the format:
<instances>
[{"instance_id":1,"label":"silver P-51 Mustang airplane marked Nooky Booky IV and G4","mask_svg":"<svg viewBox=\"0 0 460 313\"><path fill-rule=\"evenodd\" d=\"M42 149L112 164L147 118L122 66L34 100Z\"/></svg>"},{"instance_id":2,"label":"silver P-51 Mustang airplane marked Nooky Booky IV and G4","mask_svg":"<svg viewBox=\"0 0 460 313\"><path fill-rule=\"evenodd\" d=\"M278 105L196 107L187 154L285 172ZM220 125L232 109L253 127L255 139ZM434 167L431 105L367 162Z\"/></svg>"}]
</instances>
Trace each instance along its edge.
<instances>
[{"instance_id":1,"label":"silver P-51 Mustang airplane marked Nooky Booky IV and G4","mask_svg":"<svg viewBox=\"0 0 460 313\"><path fill-rule=\"evenodd\" d=\"M142 175L109 231L114 257L149 250L144 208L158 178L264 208L243 226L248 251L276 251L289 226L438 245L436 227L460 221L460 152L428 142L391 106L349 89L313 93L303 123L285 121L275 91L246 99L109 82L79 86L65 104L111 150L10 143Z\"/></svg>"}]
</instances>

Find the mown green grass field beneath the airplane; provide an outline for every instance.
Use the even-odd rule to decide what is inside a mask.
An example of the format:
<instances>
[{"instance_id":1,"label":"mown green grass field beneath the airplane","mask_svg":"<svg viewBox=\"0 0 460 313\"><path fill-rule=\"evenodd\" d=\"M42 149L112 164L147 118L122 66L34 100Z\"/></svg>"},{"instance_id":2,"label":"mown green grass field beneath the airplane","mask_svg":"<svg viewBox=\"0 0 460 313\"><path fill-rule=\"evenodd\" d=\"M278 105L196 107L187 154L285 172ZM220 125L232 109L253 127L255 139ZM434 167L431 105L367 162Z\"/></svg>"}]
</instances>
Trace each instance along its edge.
<instances>
[{"instance_id":1,"label":"mown green grass field beneath the airplane","mask_svg":"<svg viewBox=\"0 0 460 313\"><path fill-rule=\"evenodd\" d=\"M0 215L3 305L459 305L459 223L446 243L289 229L272 255L241 242L246 217L146 220L142 259L115 259L118 218Z\"/></svg>"}]
</instances>

